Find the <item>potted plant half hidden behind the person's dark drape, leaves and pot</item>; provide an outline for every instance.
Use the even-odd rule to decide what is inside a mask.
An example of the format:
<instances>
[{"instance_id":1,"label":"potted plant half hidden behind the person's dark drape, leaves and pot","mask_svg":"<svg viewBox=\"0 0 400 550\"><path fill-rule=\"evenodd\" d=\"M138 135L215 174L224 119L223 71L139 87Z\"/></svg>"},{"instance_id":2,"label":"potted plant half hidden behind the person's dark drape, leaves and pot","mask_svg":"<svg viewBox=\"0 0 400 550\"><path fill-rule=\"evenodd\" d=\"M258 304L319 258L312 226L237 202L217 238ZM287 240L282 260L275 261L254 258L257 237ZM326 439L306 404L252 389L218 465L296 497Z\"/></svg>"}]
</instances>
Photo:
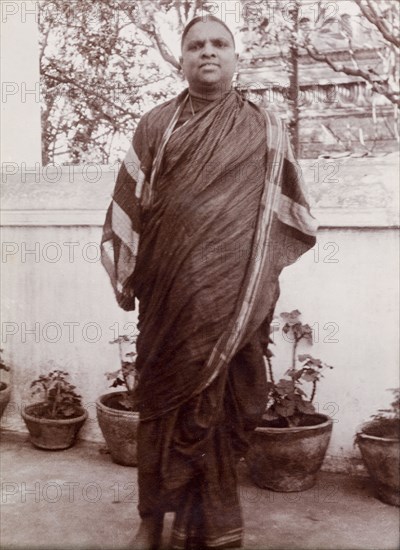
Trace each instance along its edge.
<instances>
[{"instance_id":1,"label":"potted plant half hidden behind the person's dark drape, leaves and pot","mask_svg":"<svg viewBox=\"0 0 400 550\"><path fill-rule=\"evenodd\" d=\"M137 466L136 351L124 351L126 346L132 348L135 339L124 334L110 343L118 344L121 366L106 376L112 381L112 388L122 386L124 390L106 393L97 399L97 420L112 460L123 466Z\"/></svg>"}]
</instances>

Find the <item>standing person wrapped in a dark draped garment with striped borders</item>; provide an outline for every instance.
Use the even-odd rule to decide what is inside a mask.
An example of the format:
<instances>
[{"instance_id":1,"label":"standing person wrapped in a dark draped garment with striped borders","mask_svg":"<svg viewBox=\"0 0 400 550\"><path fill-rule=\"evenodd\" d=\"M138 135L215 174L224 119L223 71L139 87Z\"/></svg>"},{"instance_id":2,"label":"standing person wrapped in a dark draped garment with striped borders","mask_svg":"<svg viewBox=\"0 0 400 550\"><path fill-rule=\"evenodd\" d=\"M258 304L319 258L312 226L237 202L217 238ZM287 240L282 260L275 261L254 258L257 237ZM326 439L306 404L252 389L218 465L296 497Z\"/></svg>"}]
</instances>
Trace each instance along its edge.
<instances>
[{"instance_id":1,"label":"standing person wrapped in a dark draped garment with striped borders","mask_svg":"<svg viewBox=\"0 0 400 550\"><path fill-rule=\"evenodd\" d=\"M266 404L278 276L315 242L280 122L231 89L234 39L196 18L189 89L141 119L102 241L124 309L139 300L136 548L239 548L236 463Z\"/></svg>"}]
</instances>

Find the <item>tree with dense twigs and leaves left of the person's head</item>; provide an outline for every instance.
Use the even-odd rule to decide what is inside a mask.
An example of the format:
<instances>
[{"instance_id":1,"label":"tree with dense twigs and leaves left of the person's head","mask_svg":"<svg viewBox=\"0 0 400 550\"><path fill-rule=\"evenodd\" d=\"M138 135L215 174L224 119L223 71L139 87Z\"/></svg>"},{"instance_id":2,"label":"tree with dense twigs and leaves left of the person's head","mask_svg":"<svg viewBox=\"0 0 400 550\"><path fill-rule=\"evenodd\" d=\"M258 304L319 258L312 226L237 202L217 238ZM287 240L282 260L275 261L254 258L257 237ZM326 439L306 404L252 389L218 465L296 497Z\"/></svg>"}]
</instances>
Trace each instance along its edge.
<instances>
[{"instance_id":1,"label":"tree with dense twigs and leaves left of the person's head","mask_svg":"<svg viewBox=\"0 0 400 550\"><path fill-rule=\"evenodd\" d=\"M183 87L160 30L178 33L201 0L40 2L42 160L114 162L138 119Z\"/></svg>"}]
</instances>

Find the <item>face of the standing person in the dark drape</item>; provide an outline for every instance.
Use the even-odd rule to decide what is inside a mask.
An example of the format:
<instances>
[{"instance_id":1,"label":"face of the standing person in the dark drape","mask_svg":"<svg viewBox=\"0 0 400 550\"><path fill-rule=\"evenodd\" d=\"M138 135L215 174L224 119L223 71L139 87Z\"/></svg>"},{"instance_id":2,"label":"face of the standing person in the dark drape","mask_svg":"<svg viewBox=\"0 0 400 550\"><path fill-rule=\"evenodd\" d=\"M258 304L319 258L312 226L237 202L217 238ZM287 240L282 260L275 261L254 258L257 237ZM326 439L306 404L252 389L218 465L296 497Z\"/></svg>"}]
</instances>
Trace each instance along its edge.
<instances>
[{"instance_id":1,"label":"face of the standing person in the dark drape","mask_svg":"<svg viewBox=\"0 0 400 550\"><path fill-rule=\"evenodd\" d=\"M199 21L187 33L181 64L192 91L229 89L236 60L232 37L217 21Z\"/></svg>"}]
</instances>

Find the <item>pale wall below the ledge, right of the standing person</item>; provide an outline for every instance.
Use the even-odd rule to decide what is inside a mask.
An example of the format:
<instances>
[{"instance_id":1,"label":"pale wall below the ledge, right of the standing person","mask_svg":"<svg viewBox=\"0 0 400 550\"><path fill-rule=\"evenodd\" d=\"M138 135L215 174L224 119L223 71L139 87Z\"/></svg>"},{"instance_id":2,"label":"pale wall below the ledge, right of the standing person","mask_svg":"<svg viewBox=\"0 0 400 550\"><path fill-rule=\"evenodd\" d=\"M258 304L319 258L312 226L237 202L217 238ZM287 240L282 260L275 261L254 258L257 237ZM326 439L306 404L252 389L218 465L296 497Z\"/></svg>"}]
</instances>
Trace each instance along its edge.
<instances>
[{"instance_id":1,"label":"pale wall below the ledge, right of the standing person","mask_svg":"<svg viewBox=\"0 0 400 550\"><path fill-rule=\"evenodd\" d=\"M308 352L334 367L316 396L335 422L330 469L352 466L358 426L391 402L387 388L399 386L398 266L396 229L332 228L281 277L276 313L299 309L318 340ZM286 368L290 344L278 339L275 347L276 364Z\"/></svg>"}]
</instances>

